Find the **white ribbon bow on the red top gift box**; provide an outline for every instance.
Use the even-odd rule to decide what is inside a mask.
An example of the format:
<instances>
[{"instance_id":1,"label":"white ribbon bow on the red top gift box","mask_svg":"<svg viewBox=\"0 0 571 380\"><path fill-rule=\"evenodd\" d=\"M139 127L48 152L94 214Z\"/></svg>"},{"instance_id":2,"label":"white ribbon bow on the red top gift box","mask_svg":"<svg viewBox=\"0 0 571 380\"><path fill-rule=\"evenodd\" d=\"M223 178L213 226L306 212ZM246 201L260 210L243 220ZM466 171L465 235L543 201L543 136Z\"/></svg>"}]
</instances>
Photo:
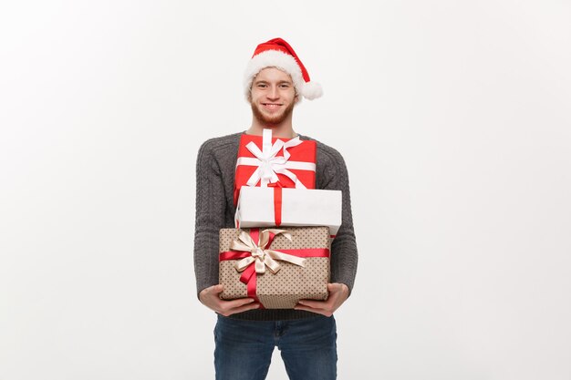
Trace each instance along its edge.
<instances>
[{"instance_id":1,"label":"white ribbon bow on the red top gift box","mask_svg":"<svg viewBox=\"0 0 571 380\"><path fill-rule=\"evenodd\" d=\"M312 170L316 171L316 164L313 162L290 161L291 154L287 149L296 147L303 141L296 137L287 142L277 139L272 145L272 129L264 129L262 133L262 150L250 141L246 148L252 152L254 158L239 157L236 166L247 165L257 166L250 179L246 182L248 186L255 186L260 181L260 187L267 187L268 183L278 181L277 174L283 174L296 184L296 189L306 189L306 186L297 179L296 174L288 169ZM276 154L284 150L284 156L277 157Z\"/></svg>"}]
</instances>

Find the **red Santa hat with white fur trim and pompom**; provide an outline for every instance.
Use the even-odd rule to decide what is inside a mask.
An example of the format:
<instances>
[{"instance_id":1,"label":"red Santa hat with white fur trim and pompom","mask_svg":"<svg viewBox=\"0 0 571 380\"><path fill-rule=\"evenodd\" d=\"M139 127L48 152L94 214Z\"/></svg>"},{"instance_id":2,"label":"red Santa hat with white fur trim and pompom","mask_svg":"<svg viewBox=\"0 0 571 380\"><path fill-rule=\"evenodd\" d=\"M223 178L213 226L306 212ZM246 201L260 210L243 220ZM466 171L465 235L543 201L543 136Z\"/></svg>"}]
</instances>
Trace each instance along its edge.
<instances>
[{"instance_id":1,"label":"red Santa hat with white fur trim and pompom","mask_svg":"<svg viewBox=\"0 0 571 380\"><path fill-rule=\"evenodd\" d=\"M292 46L281 38L274 38L258 45L254 56L246 66L244 73L246 98L249 98L254 77L265 67L277 67L289 74L294 81L297 94L304 98L313 100L323 95L321 85L309 80L306 67L301 63Z\"/></svg>"}]
</instances>

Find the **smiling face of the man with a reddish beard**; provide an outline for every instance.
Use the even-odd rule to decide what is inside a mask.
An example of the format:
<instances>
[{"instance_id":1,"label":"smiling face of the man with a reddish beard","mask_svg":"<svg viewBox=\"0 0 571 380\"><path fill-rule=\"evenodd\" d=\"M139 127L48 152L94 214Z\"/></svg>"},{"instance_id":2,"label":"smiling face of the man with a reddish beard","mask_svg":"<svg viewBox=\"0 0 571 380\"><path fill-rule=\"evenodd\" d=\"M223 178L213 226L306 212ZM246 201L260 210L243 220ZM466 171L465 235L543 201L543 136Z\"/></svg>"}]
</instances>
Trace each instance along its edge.
<instances>
[{"instance_id":1,"label":"smiling face of the man with a reddish beard","mask_svg":"<svg viewBox=\"0 0 571 380\"><path fill-rule=\"evenodd\" d=\"M296 100L296 87L292 78L278 68L266 67L252 81L252 112L254 118L264 125L275 126L291 121Z\"/></svg>"}]
</instances>

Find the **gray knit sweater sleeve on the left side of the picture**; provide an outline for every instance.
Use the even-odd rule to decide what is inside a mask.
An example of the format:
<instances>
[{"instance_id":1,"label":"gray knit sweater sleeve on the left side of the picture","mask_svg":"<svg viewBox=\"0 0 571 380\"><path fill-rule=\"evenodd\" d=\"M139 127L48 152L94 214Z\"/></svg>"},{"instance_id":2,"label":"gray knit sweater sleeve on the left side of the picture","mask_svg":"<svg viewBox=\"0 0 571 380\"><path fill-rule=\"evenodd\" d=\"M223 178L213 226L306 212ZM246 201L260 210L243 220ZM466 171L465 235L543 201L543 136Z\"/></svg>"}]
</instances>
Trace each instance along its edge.
<instances>
[{"instance_id":1,"label":"gray knit sweater sleeve on the left side of the picture","mask_svg":"<svg viewBox=\"0 0 571 380\"><path fill-rule=\"evenodd\" d=\"M218 283L218 233L224 224L224 205L222 173L209 140L202 144L196 161L194 273L197 295Z\"/></svg>"}]
</instances>

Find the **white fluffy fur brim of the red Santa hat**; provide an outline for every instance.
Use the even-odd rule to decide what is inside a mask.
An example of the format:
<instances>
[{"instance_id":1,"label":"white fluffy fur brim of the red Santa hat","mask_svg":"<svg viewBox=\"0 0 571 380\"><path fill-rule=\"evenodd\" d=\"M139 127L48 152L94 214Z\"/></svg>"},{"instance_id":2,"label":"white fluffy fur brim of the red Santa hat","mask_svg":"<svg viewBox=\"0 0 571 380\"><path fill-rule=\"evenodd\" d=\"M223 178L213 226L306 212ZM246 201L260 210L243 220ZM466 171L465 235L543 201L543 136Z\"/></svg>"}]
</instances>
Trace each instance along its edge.
<instances>
[{"instance_id":1,"label":"white fluffy fur brim of the red Santa hat","mask_svg":"<svg viewBox=\"0 0 571 380\"><path fill-rule=\"evenodd\" d=\"M306 82L301 74L301 68L297 66L296 58L278 50L266 50L263 53L253 56L246 66L244 73L244 94L246 99L250 96L250 89L252 88L254 77L265 67L276 67L285 71L292 77L294 87L296 87L296 93L306 97L304 88L306 87ZM306 98L311 99L309 97Z\"/></svg>"}]
</instances>

